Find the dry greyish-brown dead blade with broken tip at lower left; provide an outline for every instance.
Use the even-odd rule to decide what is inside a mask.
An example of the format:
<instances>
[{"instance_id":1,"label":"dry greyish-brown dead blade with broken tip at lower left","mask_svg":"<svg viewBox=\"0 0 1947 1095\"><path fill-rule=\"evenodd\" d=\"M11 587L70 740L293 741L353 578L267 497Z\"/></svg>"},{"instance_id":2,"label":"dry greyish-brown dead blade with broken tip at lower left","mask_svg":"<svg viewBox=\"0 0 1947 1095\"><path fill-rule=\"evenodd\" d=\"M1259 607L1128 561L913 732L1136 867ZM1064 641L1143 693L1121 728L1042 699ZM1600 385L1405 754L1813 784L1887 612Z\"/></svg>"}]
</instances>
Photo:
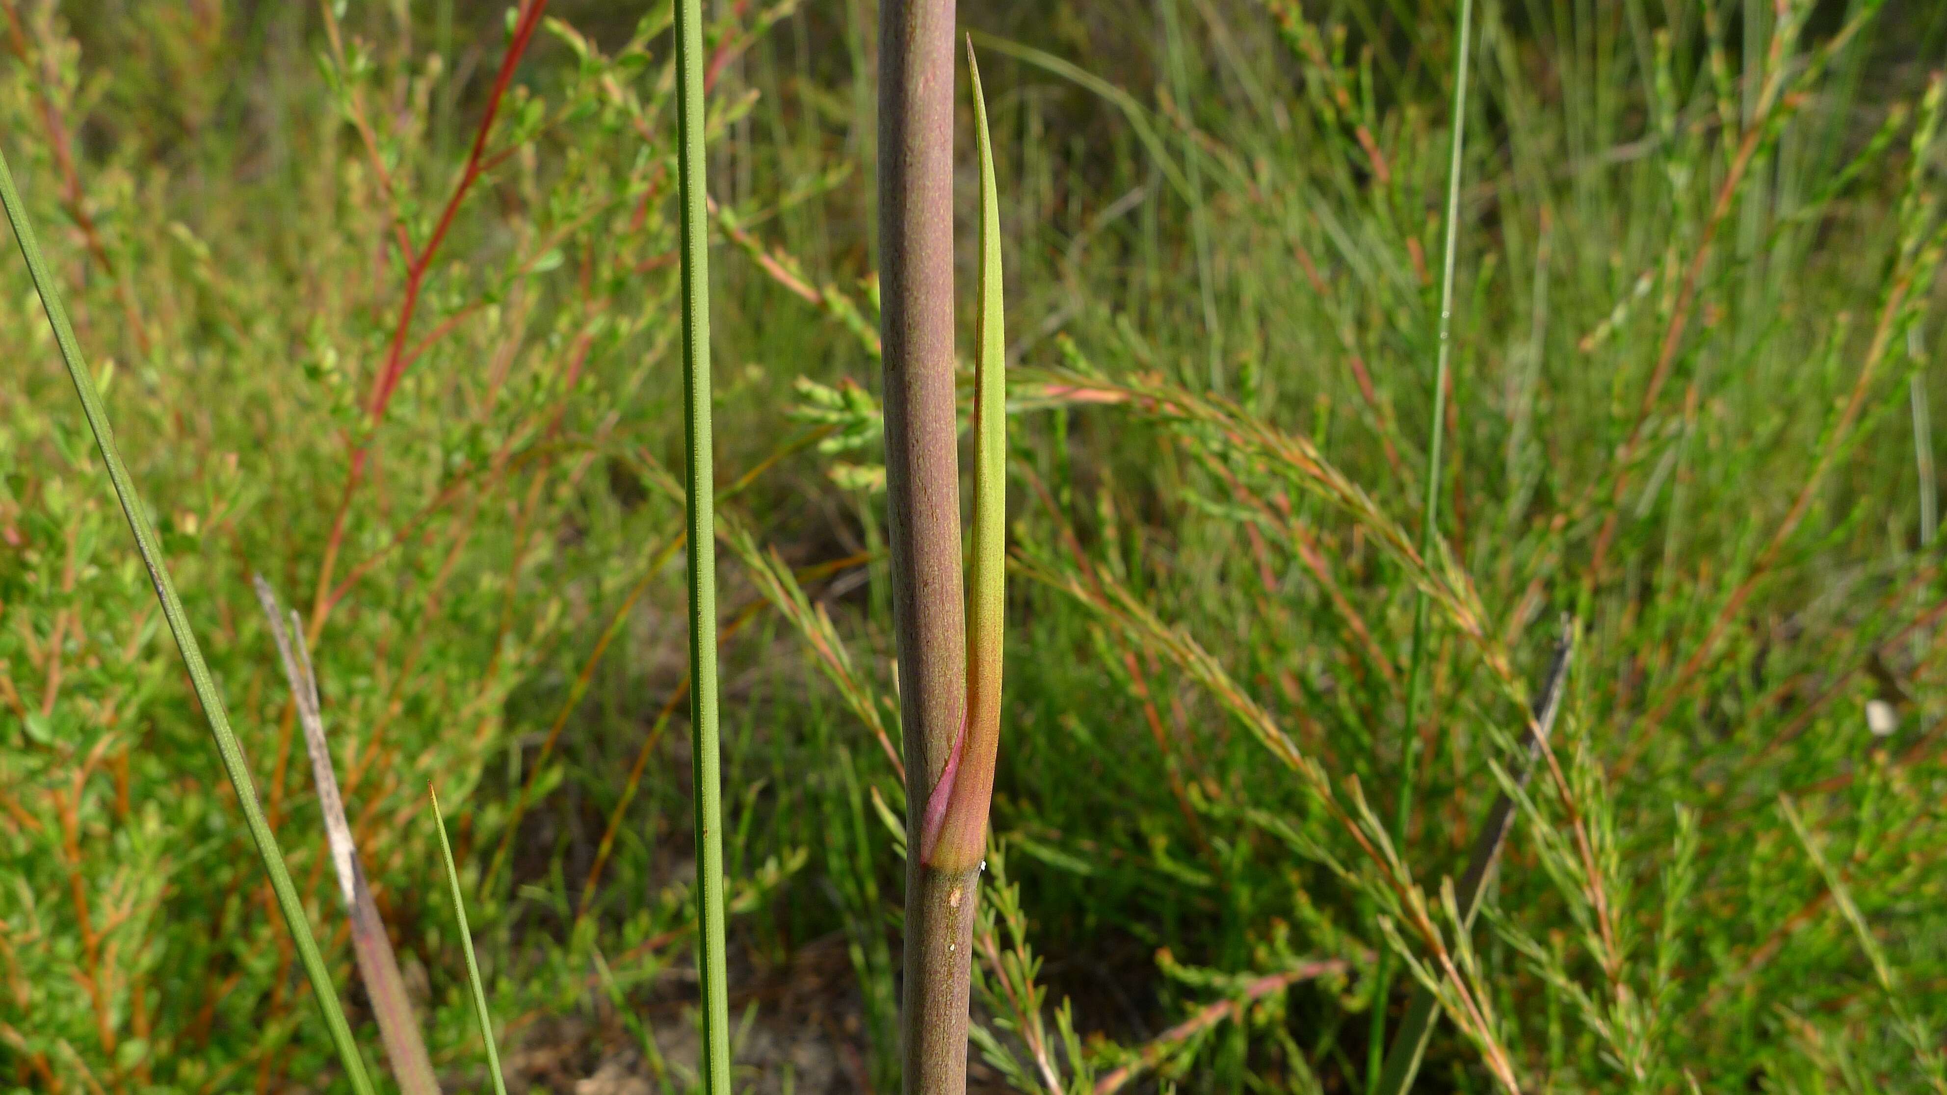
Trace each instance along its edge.
<instances>
[{"instance_id":1,"label":"dry greyish-brown dead blade with broken tip at lower left","mask_svg":"<svg viewBox=\"0 0 1947 1095\"><path fill-rule=\"evenodd\" d=\"M331 744L325 740L323 703L317 699L317 672L312 668L312 651L304 643L304 625L296 612L290 614L290 627L284 625L284 610L278 608L276 592L271 590L271 583L263 575L251 575L251 585L257 588L257 604L263 606L265 620L271 622L276 657L284 662L284 680L290 684L290 698L298 707L298 725L304 727L304 748L312 756L312 783L317 785L317 809L325 814L331 869L337 873L339 896L345 898L345 918L350 924L352 957L358 961L358 976L372 1000L372 1019L378 1021L378 1037L386 1044L393 1079L399 1081L403 1095L438 1095L440 1081L432 1074L426 1042L419 1035L419 1017L413 1015L413 1000L405 994L399 959L391 951L391 939L386 937L378 902L372 900L372 887L358 863L352 828L345 820L345 797L339 795L339 777L331 770Z\"/></svg>"}]
</instances>

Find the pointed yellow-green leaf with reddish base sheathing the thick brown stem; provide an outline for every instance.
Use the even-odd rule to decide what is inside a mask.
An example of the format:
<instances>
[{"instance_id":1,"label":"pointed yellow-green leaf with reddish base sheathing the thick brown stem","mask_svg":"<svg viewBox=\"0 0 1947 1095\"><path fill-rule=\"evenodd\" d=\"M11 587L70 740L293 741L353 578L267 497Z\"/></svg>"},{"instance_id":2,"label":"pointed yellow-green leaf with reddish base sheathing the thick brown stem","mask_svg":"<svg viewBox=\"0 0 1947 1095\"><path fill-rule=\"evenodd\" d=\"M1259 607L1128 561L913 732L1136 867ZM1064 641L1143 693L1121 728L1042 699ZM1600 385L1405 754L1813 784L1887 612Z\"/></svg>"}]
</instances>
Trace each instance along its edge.
<instances>
[{"instance_id":1,"label":"pointed yellow-green leaf with reddish base sheathing the thick brown stem","mask_svg":"<svg viewBox=\"0 0 1947 1095\"><path fill-rule=\"evenodd\" d=\"M1001 199L987 138L987 99L974 74L979 144L979 353L974 359L974 546L968 557L968 703L946 770L927 797L923 859L940 871L979 867L1001 748L1001 647L1007 631L1007 331L1001 292Z\"/></svg>"}]
</instances>

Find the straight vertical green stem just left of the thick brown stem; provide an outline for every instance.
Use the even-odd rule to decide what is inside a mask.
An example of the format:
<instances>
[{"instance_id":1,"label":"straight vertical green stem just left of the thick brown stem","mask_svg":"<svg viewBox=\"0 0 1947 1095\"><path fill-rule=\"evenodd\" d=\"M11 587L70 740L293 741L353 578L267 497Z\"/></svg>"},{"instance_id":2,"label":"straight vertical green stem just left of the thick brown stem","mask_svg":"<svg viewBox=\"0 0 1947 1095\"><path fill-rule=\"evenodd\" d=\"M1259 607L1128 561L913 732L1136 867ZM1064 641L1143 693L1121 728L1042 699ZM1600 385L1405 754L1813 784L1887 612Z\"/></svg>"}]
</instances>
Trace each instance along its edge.
<instances>
[{"instance_id":1,"label":"straight vertical green stem just left of the thick brown stem","mask_svg":"<svg viewBox=\"0 0 1947 1095\"><path fill-rule=\"evenodd\" d=\"M676 4L678 189L683 259L683 425L689 473L689 733L697 828L703 1091L730 1095L724 976L722 774L716 744L716 503L711 470L711 265L703 181L703 6Z\"/></svg>"}]
</instances>

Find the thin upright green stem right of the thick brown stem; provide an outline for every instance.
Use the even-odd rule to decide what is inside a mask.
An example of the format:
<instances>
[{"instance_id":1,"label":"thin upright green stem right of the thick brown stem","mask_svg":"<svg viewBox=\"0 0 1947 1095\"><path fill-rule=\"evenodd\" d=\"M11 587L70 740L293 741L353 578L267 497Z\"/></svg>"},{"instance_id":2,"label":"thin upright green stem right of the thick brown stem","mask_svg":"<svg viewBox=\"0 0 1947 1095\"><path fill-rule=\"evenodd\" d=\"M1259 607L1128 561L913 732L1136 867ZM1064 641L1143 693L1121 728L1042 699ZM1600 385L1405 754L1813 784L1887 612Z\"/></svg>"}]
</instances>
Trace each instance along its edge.
<instances>
[{"instance_id":1,"label":"thin upright green stem right of the thick brown stem","mask_svg":"<svg viewBox=\"0 0 1947 1095\"><path fill-rule=\"evenodd\" d=\"M1458 47L1454 49L1454 101L1452 101L1452 121L1449 131L1452 134L1447 154L1447 255L1441 265L1441 343L1439 343L1439 362L1433 370L1433 417L1427 421L1427 477L1425 477L1425 497L1419 512L1419 557L1433 557L1433 542L1439 536L1439 514L1441 514L1441 442L1445 440L1447 423L1447 372L1452 359L1452 314L1454 314L1454 253L1460 244L1460 158L1466 150L1466 76L1468 76L1468 47L1472 45L1474 29L1474 0L1460 0L1460 12L1456 16L1458 29L1454 37ZM1419 768L1419 701L1425 680L1427 662L1427 594L1419 590L1414 594L1414 645L1408 655L1406 670L1406 727L1400 750L1400 807L1398 818L1392 826L1392 840L1396 846L1406 848L1406 834L1414 822L1414 779ZM1373 998L1373 1040L1367 1046L1369 1054L1369 1089L1378 1083L1378 1072L1386 1048L1386 992L1392 986L1392 968L1386 957L1380 957L1378 972L1378 994Z\"/></svg>"}]
</instances>

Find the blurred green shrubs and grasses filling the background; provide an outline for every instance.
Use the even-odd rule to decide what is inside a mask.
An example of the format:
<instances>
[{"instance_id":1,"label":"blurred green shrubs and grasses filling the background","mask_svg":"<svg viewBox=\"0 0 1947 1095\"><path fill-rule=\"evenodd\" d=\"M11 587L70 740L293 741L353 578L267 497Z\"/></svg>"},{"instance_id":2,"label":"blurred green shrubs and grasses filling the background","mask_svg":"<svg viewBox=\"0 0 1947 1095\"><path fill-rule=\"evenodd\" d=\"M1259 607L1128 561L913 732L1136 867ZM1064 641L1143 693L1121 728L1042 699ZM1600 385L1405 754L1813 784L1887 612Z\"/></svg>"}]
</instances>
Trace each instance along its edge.
<instances>
[{"instance_id":1,"label":"blurred green shrubs and grasses filling the background","mask_svg":"<svg viewBox=\"0 0 1947 1095\"><path fill-rule=\"evenodd\" d=\"M0 140L360 1040L253 573L300 610L446 1083L483 1070L426 781L510 1083L687 1089L668 4L551 6L477 179L496 8L0 8ZM711 10L738 1076L888 1091L872 10ZM1451 6L964 4L1016 339L977 1083L1363 1091L1375 1007L1439 955L1470 1021L1425 1089L1947 1083L1947 16L1476 14L1421 559ZM0 1083L331 1087L25 271L0 286ZM1552 760L1464 947L1441 879L1563 614Z\"/></svg>"}]
</instances>

